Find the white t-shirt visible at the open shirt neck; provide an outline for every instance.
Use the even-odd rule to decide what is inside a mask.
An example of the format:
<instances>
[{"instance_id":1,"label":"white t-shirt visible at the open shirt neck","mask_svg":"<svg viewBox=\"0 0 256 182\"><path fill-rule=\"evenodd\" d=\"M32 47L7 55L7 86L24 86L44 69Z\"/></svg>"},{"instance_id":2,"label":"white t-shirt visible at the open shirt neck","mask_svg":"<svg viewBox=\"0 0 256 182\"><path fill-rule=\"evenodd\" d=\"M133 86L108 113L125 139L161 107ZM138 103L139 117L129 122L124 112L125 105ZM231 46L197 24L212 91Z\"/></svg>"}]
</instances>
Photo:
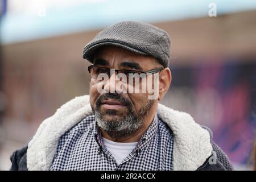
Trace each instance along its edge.
<instances>
[{"instance_id":1,"label":"white t-shirt visible at the open shirt neck","mask_svg":"<svg viewBox=\"0 0 256 182\"><path fill-rule=\"evenodd\" d=\"M138 142L130 142L130 143L121 143L121 142L113 142L106 138L103 138L103 142L110 152L113 155L114 159L117 161L119 165L123 159L125 159L131 151L137 146Z\"/></svg>"}]
</instances>

